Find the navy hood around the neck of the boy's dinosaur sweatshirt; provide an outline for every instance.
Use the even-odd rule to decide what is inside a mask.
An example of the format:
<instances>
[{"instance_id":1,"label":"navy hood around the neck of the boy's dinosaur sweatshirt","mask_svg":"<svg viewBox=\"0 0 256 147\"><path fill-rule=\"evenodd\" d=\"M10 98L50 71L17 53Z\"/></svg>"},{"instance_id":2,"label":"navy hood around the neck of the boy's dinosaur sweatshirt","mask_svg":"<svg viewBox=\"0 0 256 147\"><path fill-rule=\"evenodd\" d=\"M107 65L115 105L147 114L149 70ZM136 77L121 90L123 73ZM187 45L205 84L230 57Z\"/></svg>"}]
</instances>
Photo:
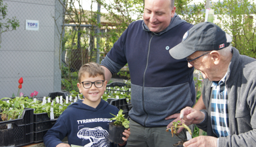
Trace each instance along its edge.
<instances>
[{"instance_id":1,"label":"navy hood around the neck of the boy's dinosaur sweatshirt","mask_svg":"<svg viewBox=\"0 0 256 147\"><path fill-rule=\"evenodd\" d=\"M68 107L74 107L77 109L84 109L84 110L88 110L88 111L99 111L99 110L105 109L105 107L107 107L107 105L108 105L108 103L105 100L101 99L101 102L99 102L99 105L96 108L93 108L88 105L85 105L84 103L82 103L82 101L83 100L78 100L77 102L73 102Z\"/></svg>"}]
</instances>

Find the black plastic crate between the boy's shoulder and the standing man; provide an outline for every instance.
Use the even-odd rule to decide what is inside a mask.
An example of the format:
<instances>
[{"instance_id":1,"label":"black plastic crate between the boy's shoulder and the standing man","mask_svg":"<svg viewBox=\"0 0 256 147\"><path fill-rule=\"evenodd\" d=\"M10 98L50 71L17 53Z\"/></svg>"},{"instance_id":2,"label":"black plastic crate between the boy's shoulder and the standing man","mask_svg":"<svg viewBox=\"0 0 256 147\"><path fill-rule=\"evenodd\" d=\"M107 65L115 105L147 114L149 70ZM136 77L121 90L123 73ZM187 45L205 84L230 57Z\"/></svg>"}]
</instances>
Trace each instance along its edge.
<instances>
[{"instance_id":1,"label":"black plastic crate between the boy's shoulder and the standing man","mask_svg":"<svg viewBox=\"0 0 256 147\"><path fill-rule=\"evenodd\" d=\"M124 117L125 118L128 117L128 113L130 109L126 102L126 98L111 100L109 104L118 107L119 110L122 109Z\"/></svg>"}]
</instances>

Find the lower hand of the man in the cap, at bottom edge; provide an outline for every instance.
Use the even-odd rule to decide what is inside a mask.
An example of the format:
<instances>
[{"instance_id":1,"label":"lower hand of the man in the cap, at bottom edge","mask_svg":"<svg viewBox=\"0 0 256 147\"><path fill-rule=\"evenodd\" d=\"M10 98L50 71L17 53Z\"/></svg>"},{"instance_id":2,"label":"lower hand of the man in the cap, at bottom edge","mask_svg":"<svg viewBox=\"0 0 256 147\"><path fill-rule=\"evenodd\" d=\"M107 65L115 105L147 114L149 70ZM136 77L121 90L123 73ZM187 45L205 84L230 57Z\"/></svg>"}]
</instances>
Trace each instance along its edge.
<instances>
[{"instance_id":1,"label":"lower hand of the man in the cap, at bottom edge","mask_svg":"<svg viewBox=\"0 0 256 147\"><path fill-rule=\"evenodd\" d=\"M184 147L217 147L217 138L211 136L199 136L188 140L183 144Z\"/></svg>"}]
</instances>

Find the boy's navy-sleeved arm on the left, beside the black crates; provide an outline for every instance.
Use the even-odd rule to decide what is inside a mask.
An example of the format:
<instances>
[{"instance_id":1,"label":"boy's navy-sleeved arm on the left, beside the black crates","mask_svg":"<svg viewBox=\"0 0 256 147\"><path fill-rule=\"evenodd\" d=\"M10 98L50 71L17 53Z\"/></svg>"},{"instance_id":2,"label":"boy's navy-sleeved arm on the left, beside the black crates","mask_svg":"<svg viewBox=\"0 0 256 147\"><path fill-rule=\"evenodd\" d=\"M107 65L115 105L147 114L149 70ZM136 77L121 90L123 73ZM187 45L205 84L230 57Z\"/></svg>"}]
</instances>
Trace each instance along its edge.
<instances>
[{"instance_id":1,"label":"boy's navy-sleeved arm on the left, beside the black crates","mask_svg":"<svg viewBox=\"0 0 256 147\"><path fill-rule=\"evenodd\" d=\"M53 127L51 127L51 129L49 129L47 134L45 134L43 137L43 142L45 146L57 146L63 143L61 140L63 140L67 134L68 131L66 129L65 123L61 117L59 117L55 125L53 125Z\"/></svg>"}]
</instances>

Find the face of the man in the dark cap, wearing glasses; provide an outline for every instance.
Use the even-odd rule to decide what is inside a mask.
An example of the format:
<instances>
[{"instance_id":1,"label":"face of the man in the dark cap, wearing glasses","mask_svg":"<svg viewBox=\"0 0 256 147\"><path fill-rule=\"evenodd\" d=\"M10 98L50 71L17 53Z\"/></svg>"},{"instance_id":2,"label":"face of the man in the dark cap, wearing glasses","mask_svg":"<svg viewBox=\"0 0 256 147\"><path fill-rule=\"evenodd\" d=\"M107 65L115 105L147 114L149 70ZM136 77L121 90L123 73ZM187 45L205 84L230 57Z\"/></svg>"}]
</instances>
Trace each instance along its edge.
<instances>
[{"instance_id":1,"label":"face of the man in the dark cap, wearing glasses","mask_svg":"<svg viewBox=\"0 0 256 147\"><path fill-rule=\"evenodd\" d=\"M188 56L188 60L195 59L204 53L201 51L196 51L192 55ZM205 54L198 59L193 60L192 62L188 63L188 67L195 67L195 69L201 71L203 78L209 79L210 81L214 78L215 71L212 68L211 64L211 57L209 56L210 53Z\"/></svg>"}]
</instances>

